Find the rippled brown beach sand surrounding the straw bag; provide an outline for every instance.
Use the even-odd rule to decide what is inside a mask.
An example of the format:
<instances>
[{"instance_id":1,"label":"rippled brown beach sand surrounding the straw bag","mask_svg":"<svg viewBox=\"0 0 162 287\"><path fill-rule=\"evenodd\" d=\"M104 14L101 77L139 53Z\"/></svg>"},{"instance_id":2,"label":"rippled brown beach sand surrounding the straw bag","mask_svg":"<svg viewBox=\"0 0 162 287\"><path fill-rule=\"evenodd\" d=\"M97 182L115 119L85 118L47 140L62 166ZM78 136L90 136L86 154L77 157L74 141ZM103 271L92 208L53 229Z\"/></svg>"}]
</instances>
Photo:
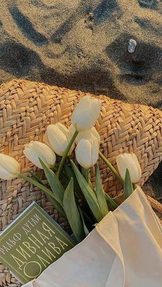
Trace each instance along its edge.
<instances>
[{"instance_id":1,"label":"rippled brown beach sand surrounding the straw bag","mask_svg":"<svg viewBox=\"0 0 162 287\"><path fill-rule=\"evenodd\" d=\"M1 0L0 82L25 78L162 109L161 0ZM134 53L128 41L137 42ZM162 198L162 164L144 186Z\"/></svg>"}]
</instances>

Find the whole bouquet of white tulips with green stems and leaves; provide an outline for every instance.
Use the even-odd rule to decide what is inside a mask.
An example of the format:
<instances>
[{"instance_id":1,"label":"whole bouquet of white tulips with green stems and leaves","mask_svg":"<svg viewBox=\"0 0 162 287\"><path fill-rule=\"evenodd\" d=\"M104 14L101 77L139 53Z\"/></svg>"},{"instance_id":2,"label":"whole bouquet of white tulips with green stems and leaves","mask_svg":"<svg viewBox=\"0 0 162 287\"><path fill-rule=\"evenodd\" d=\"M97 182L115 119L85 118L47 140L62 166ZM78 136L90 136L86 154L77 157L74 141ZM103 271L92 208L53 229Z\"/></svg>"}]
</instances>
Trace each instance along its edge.
<instances>
[{"instance_id":1,"label":"whole bouquet of white tulips with green stems and leaves","mask_svg":"<svg viewBox=\"0 0 162 287\"><path fill-rule=\"evenodd\" d=\"M120 154L117 170L100 151L100 135L94 125L100 114L101 101L83 97L71 116L69 128L56 123L48 125L43 142L32 141L24 149L28 160L43 169L48 186L36 173L32 177L21 174L19 163L0 154L1 179L21 177L43 190L57 210L67 218L77 242L82 241L109 210L118 205L102 187L98 158L113 172L124 188L127 198L135 190L141 177L137 156ZM73 153L75 149L75 155ZM95 184L91 183L90 169L95 166Z\"/></svg>"}]
</instances>

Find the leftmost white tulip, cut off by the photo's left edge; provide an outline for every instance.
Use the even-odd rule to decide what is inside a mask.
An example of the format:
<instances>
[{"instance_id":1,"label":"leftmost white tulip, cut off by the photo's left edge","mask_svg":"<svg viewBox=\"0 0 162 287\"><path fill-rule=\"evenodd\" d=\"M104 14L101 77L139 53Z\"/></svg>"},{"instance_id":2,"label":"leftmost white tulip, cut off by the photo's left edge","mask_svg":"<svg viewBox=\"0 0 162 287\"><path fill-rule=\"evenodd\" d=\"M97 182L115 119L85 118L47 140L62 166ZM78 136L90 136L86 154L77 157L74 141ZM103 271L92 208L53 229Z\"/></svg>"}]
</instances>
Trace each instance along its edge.
<instances>
[{"instance_id":1,"label":"leftmost white tulip, cut off by the photo's left edge","mask_svg":"<svg viewBox=\"0 0 162 287\"><path fill-rule=\"evenodd\" d=\"M9 155L0 153L0 178L10 180L20 173L19 163Z\"/></svg>"}]
</instances>

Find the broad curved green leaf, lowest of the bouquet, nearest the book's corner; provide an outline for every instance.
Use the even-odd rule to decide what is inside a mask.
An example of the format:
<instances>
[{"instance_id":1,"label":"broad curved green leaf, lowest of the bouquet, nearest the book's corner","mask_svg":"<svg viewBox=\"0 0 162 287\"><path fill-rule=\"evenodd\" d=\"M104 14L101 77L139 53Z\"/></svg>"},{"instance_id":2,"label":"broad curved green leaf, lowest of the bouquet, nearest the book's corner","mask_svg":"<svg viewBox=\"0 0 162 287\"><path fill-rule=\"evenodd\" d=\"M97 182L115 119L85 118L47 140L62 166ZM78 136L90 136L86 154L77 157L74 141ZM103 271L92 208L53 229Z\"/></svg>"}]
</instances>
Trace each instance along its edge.
<instances>
[{"instance_id":1,"label":"broad curved green leaf, lowest of the bouquet, nearest the book's corner","mask_svg":"<svg viewBox=\"0 0 162 287\"><path fill-rule=\"evenodd\" d=\"M85 234L80 212L78 211L73 193L73 177L71 177L71 180L65 190L63 205L73 234L76 236L78 242L81 242L85 238Z\"/></svg>"}]
</instances>

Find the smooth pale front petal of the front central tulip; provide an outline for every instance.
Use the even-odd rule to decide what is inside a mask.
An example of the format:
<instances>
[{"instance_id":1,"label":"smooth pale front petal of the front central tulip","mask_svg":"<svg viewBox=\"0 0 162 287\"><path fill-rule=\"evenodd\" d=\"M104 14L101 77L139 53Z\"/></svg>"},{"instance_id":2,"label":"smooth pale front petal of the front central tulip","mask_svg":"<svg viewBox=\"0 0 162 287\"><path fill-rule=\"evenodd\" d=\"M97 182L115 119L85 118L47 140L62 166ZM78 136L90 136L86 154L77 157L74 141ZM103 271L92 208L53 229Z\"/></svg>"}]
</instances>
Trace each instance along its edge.
<instances>
[{"instance_id":1,"label":"smooth pale front petal of the front central tulip","mask_svg":"<svg viewBox=\"0 0 162 287\"><path fill-rule=\"evenodd\" d=\"M84 169L89 169L91 166L91 144L89 140L82 139L78 142L76 147L76 159Z\"/></svg>"}]
</instances>

